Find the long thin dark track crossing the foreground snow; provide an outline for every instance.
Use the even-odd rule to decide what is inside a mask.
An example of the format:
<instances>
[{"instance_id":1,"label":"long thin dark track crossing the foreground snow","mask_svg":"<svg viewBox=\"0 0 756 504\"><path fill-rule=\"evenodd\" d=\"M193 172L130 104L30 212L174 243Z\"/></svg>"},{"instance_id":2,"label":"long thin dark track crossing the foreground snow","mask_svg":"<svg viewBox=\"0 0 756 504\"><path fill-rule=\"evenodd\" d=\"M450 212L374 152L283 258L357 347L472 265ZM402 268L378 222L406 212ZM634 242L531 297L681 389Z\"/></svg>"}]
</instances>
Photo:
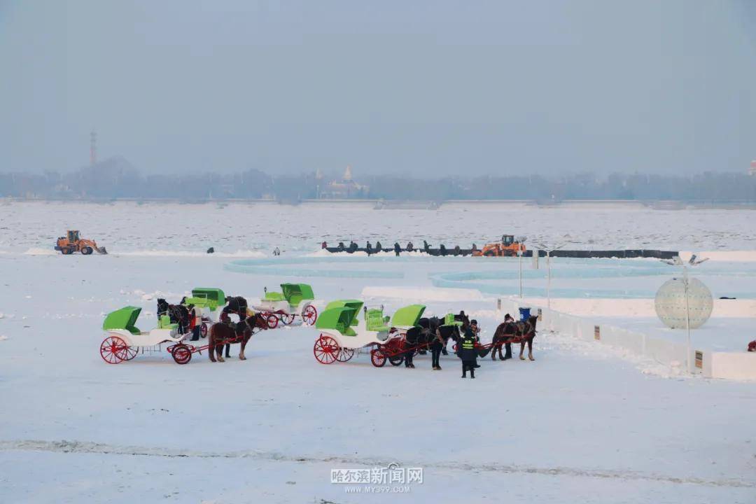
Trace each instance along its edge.
<instances>
[{"instance_id":1,"label":"long thin dark track crossing the foreground snow","mask_svg":"<svg viewBox=\"0 0 756 504\"><path fill-rule=\"evenodd\" d=\"M0 441L0 451L38 451L48 453L94 453L101 455L119 456L155 456L168 458L194 458L194 459L256 459L270 460L275 462L335 462L338 464L350 464L355 466L380 466L386 465L384 459L355 458L346 456L295 456L276 452L264 452L259 450L242 450L232 452L211 452L198 450L185 450L181 448L161 447L135 447L115 444L92 443L90 441ZM671 484L696 484L705 487L736 487L756 488L756 481L744 481L739 479L711 480L706 478L677 478L668 475L636 471L615 471L610 469L584 469L572 467L538 467L532 465L508 465L497 463L470 464L465 462L419 462L392 460L401 465L439 468L456 471L472 472L498 472L502 474L525 474L544 476L572 476L581 478L602 478L626 481L654 481Z\"/></svg>"}]
</instances>

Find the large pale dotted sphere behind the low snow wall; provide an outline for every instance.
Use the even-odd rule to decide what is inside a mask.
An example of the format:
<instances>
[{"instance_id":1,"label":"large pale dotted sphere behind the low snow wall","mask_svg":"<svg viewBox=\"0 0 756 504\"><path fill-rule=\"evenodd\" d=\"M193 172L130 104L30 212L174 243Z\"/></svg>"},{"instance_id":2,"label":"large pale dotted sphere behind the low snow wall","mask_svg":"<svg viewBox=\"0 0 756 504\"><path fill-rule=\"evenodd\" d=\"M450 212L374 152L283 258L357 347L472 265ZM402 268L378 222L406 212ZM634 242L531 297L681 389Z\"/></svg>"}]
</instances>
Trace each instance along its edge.
<instances>
[{"instance_id":1,"label":"large pale dotted sphere behind the low snow wall","mask_svg":"<svg viewBox=\"0 0 756 504\"><path fill-rule=\"evenodd\" d=\"M671 329L685 329L685 283L682 278L667 280L656 292L656 315ZM690 329L704 325L714 308L711 291L701 280L688 279Z\"/></svg>"}]
</instances>

